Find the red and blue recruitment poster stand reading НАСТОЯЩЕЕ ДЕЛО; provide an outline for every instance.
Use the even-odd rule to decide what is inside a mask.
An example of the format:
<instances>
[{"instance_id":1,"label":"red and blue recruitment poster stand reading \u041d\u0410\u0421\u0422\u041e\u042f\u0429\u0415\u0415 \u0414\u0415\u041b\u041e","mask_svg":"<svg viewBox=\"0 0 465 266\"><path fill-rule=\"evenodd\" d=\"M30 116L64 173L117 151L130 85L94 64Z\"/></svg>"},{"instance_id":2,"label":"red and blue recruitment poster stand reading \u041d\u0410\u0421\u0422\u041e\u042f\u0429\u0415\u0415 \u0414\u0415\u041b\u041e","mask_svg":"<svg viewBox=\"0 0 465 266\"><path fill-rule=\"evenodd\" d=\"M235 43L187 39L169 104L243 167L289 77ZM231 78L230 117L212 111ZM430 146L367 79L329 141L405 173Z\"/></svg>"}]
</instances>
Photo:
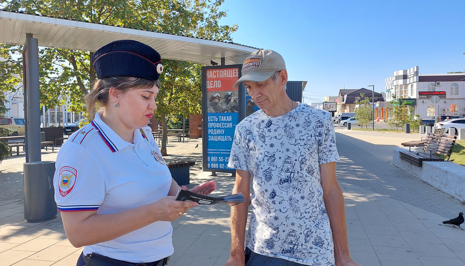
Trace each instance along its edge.
<instances>
[{"instance_id":1,"label":"red and blue recruitment poster stand reading \u041d\u0410\u0421\u0422\u041e\u042f\u0429\u0415\u0415 \u0414\u0415\u041b\u041e","mask_svg":"<svg viewBox=\"0 0 465 266\"><path fill-rule=\"evenodd\" d=\"M240 78L242 65L220 65L202 67L203 95L203 170L234 173L228 168L229 155L233 145L239 113L244 116L245 99L242 86L233 90L233 84ZM205 111L206 110L206 111Z\"/></svg>"}]
</instances>

